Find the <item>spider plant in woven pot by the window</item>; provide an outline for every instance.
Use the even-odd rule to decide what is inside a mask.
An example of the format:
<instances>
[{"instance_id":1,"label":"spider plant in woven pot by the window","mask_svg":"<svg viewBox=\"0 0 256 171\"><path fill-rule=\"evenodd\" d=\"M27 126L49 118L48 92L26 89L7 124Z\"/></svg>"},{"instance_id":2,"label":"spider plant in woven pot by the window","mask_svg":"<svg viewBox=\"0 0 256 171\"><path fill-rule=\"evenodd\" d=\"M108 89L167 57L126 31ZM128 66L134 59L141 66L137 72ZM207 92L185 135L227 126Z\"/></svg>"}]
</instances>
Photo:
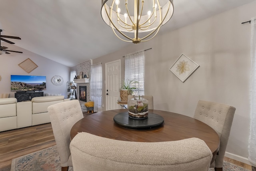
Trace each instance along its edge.
<instances>
[{"instance_id":1,"label":"spider plant in woven pot by the window","mask_svg":"<svg viewBox=\"0 0 256 171\"><path fill-rule=\"evenodd\" d=\"M133 95L134 91L138 89L135 84L139 84L139 82L136 82L134 80L128 80L122 81L121 87L120 87L120 98L122 102L128 101L128 95Z\"/></svg>"}]
</instances>

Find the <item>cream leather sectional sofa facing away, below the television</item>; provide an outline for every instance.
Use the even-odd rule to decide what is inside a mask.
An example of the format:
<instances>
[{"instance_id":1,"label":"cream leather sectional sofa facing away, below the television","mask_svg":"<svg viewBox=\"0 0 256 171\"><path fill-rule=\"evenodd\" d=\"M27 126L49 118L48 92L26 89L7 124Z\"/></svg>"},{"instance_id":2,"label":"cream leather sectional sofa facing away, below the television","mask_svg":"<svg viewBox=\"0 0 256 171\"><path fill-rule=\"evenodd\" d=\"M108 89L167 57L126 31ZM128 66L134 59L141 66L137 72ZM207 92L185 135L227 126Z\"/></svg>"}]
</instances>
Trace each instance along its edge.
<instances>
[{"instance_id":1,"label":"cream leather sectional sofa facing away, below the television","mask_svg":"<svg viewBox=\"0 0 256 171\"><path fill-rule=\"evenodd\" d=\"M17 102L16 98L0 99L0 131L50 123L47 107L63 101L64 95L34 97Z\"/></svg>"}]
</instances>

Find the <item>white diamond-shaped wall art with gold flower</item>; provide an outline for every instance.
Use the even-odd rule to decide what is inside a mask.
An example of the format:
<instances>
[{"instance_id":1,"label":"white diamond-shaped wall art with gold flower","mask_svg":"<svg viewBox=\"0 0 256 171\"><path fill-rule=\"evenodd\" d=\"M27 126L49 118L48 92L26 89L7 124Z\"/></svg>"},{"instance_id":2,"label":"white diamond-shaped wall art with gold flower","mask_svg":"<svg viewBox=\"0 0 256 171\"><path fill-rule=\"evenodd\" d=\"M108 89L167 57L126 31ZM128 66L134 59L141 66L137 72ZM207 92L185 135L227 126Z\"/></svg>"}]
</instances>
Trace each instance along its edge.
<instances>
[{"instance_id":1,"label":"white diamond-shaped wall art with gold flower","mask_svg":"<svg viewBox=\"0 0 256 171\"><path fill-rule=\"evenodd\" d=\"M186 55L181 54L176 62L171 66L170 71L178 77L180 81L185 82L198 67L199 65L196 64L196 62L188 58Z\"/></svg>"}]
</instances>

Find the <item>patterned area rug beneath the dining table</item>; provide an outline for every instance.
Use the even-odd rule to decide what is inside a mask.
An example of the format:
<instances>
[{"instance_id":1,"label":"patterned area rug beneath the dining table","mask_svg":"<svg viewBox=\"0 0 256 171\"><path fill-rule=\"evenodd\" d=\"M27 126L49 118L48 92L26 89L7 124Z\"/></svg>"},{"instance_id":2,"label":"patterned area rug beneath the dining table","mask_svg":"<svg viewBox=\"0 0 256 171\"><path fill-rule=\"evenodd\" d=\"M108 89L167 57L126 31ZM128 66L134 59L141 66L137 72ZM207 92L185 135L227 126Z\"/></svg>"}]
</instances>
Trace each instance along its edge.
<instances>
[{"instance_id":1,"label":"patterned area rug beneath the dining table","mask_svg":"<svg viewBox=\"0 0 256 171\"><path fill-rule=\"evenodd\" d=\"M56 145L12 159L11 171L60 171L60 157ZM73 171L69 167L69 171ZM214 171L214 169L209 169ZM223 171L248 171L232 163L224 161Z\"/></svg>"}]
</instances>

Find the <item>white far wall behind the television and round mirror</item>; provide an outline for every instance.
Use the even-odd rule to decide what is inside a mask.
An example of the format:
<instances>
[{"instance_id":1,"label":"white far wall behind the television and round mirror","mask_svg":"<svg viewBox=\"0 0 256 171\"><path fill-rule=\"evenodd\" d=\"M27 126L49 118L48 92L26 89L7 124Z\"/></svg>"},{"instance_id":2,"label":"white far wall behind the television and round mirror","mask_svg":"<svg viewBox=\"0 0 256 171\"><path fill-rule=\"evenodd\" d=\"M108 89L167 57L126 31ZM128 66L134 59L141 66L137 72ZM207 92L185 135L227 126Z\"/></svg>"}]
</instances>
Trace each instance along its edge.
<instances>
[{"instance_id":1,"label":"white far wall behind the television and round mirror","mask_svg":"<svg viewBox=\"0 0 256 171\"><path fill-rule=\"evenodd\" d=\"M46 91L44 93L62 93L66 95L66 82L70 78L70 68L44 58L33 52L24 50L15 45L2 43L1 46L8 47L7 50L21 51L23 54L10 52L11 54L0 55L0 93L10 93L10 97L14 97L14 91L11 92L10 75L27 75L27 76L46 76ZM18 64L30 58L38 67L30 73L24 71ZM64 83L60 86L52 84L54 76L61 76Z\"/></svg>"}]
</instances>

